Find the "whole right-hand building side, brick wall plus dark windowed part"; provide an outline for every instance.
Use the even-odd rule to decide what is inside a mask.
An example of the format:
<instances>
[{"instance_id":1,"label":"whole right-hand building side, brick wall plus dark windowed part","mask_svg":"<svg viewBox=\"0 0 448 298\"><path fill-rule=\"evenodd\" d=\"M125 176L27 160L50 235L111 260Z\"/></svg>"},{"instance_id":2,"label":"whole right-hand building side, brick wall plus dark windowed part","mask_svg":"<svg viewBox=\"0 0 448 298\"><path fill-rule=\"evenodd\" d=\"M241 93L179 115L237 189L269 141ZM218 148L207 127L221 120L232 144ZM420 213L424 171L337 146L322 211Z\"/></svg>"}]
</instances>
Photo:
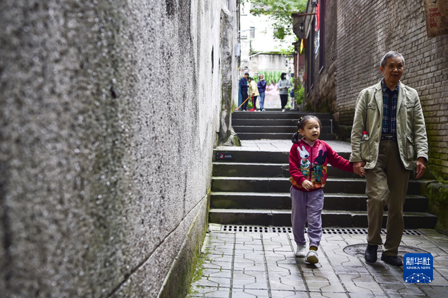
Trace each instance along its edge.
<instances>
[{"instance_id":1,"label":"whole right-hand building side, brick wall plus dark windowed part","mask_svg":"<svg viewBox=\"0 0 448 298\"><path fill-rule=\"evenodd\" d=\"M386 52L402 53L401 81L418 91L425 115L430 169L448 180L448 35L428 38L423 1L310 0L307 13L315 15L297 17L294 29L303 23L298 36L307 39L309 110L331 112L347 139L358 93L381 80Z\"/></svg>"}]
</instances>

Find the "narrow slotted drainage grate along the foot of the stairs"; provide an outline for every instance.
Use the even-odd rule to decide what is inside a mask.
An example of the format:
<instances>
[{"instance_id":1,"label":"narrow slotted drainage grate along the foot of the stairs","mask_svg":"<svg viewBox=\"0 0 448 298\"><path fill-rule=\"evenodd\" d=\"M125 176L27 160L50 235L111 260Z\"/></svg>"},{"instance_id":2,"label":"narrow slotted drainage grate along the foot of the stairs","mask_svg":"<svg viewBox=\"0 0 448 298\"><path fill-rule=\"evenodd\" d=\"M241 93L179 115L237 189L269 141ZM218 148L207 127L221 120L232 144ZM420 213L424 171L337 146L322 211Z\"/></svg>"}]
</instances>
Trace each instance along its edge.
<instances>
[{"instance_id":1,"label":"narrow slotted drainage grate along the foot of the stairs","mask_svg":"<svg viewBox=\"0 0 448 298\"><path fill-rule=\"evenodd\" d=\"M256 226L256 225L221 225L223 232L253 232L253 233L292 233L291 227L285 226ZM306 233L306 230L305 230ZM350 234L367 235L365 228L323 228L323 234ZM385 235L386 230L381 229L381 234ZM404 235L420 236L419 230L404 230Z\"/></svg>"}]
</instances>

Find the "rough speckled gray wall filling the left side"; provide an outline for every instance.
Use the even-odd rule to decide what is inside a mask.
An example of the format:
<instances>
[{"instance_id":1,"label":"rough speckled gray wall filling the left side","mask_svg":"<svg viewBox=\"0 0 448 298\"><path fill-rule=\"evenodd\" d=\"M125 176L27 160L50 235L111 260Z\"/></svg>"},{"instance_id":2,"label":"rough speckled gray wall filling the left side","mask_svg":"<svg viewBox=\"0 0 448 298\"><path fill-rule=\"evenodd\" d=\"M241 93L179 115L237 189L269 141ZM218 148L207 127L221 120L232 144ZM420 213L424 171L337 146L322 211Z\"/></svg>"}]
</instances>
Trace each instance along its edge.
<instances>
[{"instance_id":1,"label":"rough speckled gray wall filling the left side","mask_svg":"<svg viewBox=\"0 0 448 298\"><path fill-rule=\"evenodd\" d=\"M221 1L0 7L2 295L156 297L206 222Z\"/></svg>"}]
</instances>

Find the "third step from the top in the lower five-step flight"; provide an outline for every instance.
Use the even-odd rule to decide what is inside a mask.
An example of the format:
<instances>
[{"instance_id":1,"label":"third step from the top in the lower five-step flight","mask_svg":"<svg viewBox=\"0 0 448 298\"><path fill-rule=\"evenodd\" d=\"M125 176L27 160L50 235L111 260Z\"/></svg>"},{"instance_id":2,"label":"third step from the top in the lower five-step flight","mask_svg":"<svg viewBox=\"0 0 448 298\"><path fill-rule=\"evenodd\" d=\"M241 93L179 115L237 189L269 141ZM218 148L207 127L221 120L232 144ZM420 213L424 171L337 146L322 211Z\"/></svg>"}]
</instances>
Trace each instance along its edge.
<instances>
[{"instance_id":1,"label":"third step from the top in the lower five-step flight","mask_svg":"<svg viewBox=\"0 0 448 298\"><path fill-rule=\"evenodd\" d=\"M424 195L427 181L410 181L409 195ZM266 177L212 177L212 192L284 193L291 183L288 178ZM364 194L364 179L329 178L325 192L334 194Z\"/></svg>"}]
</instances>

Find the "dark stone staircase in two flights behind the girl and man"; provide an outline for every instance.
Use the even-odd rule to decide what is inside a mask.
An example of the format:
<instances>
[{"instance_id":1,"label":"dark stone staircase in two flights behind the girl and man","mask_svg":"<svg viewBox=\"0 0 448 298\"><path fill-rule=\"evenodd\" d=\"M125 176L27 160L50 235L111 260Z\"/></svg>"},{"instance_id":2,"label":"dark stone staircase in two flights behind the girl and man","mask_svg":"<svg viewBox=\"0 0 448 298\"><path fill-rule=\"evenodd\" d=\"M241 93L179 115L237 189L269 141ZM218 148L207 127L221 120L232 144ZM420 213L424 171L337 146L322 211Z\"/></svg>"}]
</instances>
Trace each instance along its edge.
<instances>
[{"instance_id":1,"label":"dark stone staircase in two flights behind the girl and man","mask_svg":"<svg viewBox=\"0 0 448 298\"><path fill-rule=\"evenodd\" d=\"M240 115L240 114L247 114ZM275 121L278 126L291 123L292 130L288 133L278 133L284 139L290 139L298 118L303 114L297 112L234 112L233 119L237 120L238 130L244 131L245 125L256 126L254 123ZM265 114L270 114L266 112ZM259 115L259 116L258 116ZM282 119L271 118L273 116ZM329 131L329 115L318 115L323 122L323 129ZM283 118L284 117L284 118ZM258 121L258 122L257 122ZM283 150L263 150L258 148L244 149L244 140L255 136L267 136L274 139L274 132L246 132L243 147L217 148L214 154L212 195L209 218L212 223L223 224L250 224L291 226L291 199L289 189L291 184L288 171L289 148L292 143L284 145ZM326 126L326 127L325 127ZM235 128L235 130L237 130ZM284 129L286 131L286 128ZM321 139L332 139L333 135L321 134ZM247 137L247 138L244 138ZM278 137L279 139L280 137ZM279 141L280 142L280 141ZM285 140L282 140L285 144ZM276 141L270 141L275 144ZM338 151L344 158L349 157L349 144L338 142L345 146L345 152ZM261 142L263 144L263 142ZM287 147L286 147L287 146ZM339 146L340 147L340 146ZM334 148L336 151L337 149ZM405 228L434 228L437 217L427 213L428 199L422 194L426 193L426 186L430 181L411 180L408 187L408 196L405 202ZM329 165L328 180L325 186L325 203L322 212L324 227L367 227L365 179L354 173L348 173ZM386 222L386 212L383 224Z\"/></svg>"}]
</instances>

